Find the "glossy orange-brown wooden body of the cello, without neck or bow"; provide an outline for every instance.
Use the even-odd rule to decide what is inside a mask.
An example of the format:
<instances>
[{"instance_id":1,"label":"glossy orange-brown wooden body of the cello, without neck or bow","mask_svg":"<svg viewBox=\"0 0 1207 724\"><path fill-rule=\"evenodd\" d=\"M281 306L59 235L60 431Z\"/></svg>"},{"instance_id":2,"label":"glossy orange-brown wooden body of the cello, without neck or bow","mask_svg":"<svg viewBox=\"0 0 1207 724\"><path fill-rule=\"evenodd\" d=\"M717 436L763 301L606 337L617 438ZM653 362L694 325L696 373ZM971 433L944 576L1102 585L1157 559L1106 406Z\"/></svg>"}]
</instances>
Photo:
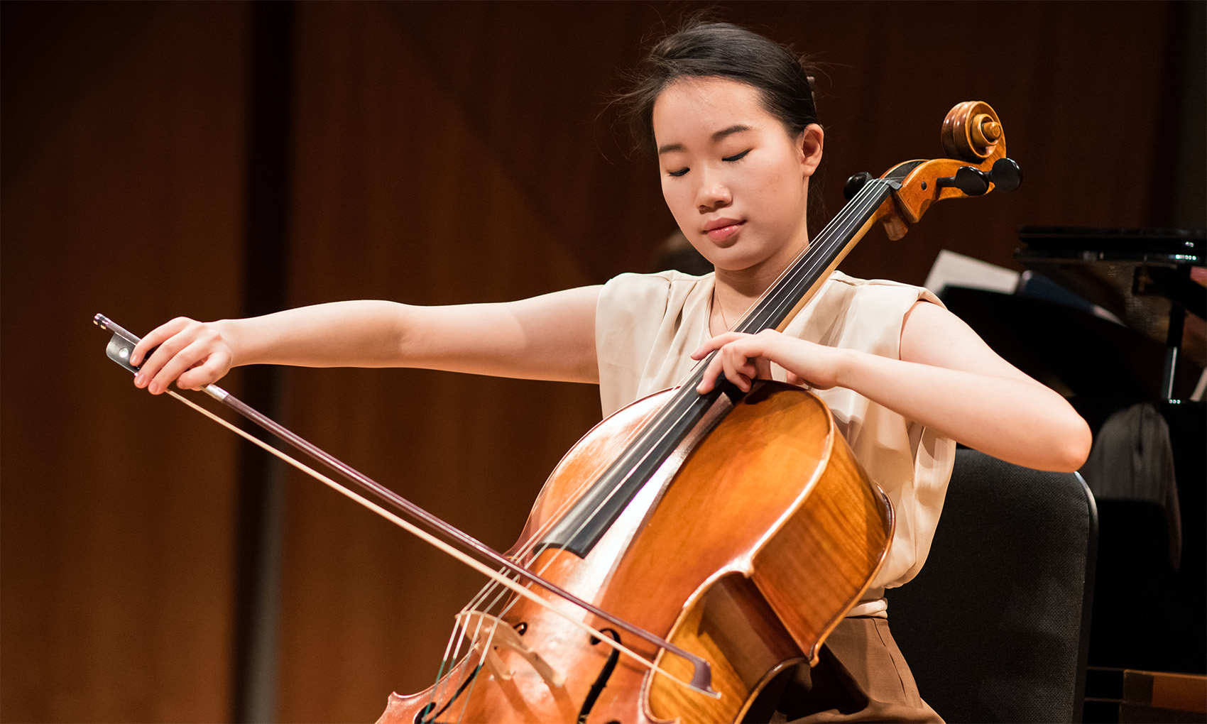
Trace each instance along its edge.
<instances>
[{"instance_id":1,"label":"glossy orange-brown wooden body of the cello, without neck or bow","mask_svg":"<svg viewBox=\"0 0 1207 724\"><path fill-rule=\"evenodd\" d=\"M521 647L485 637L432 689L392 694L380 723L736 722L777 672L816 661L884 561L892 510L829 410L800 387L759 383L707 436L684 440L585 557L531 545L671 392L640 399L584 436L550 474L508 555L707 659L719 696L617 658L560 615L517 601L501 619L521 634ZM553 606L607 625L565 602ZM688 681L689 666L674 654L635 637L624 643ZM478 664L485 647L496 656L490 666Z\"/></svg>"}]
</instances>

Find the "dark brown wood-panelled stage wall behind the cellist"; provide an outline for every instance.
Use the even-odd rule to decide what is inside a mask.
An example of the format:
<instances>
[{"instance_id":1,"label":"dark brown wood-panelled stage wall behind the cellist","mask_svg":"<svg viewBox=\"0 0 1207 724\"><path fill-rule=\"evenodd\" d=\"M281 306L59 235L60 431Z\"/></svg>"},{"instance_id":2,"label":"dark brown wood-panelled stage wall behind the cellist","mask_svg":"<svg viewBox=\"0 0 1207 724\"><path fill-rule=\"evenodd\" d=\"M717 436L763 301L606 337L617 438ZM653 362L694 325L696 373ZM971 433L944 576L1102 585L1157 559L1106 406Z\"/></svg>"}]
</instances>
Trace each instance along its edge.
<instances>
[{"instance_id":1,"label":"dark brown wood-panelled stage wall behind the cellist","mask_svg":"<svg viewBox=\"0 0 1207 724\"><path fill-rule=\"evenodd\" d=\"M674 222L601 110L692 7L4 4L0 719L372 720L430 683L478 576L135 391L89 319L651 270ZM715 7L826 64L830 212L849 174L939 154L956 101L1001 113L1019 192L873 232L851 274L1013 267L1020 224L1202 223L1190 4ZM500 549L599 416L590 386L421 370L226 384Z\"/></svg>"}]
</instances>

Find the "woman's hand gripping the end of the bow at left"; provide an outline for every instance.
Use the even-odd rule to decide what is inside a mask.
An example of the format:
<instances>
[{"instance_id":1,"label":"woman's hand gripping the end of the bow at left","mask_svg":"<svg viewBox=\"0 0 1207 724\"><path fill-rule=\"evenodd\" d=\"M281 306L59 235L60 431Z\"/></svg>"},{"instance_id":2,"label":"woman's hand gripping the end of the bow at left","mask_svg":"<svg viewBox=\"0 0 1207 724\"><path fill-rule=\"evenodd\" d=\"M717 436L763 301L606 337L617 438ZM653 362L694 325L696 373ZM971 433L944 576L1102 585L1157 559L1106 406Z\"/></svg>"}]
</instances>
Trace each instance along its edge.
<instances>
[{"instance_id":1,"label":"woman's hand gripping the end of the bow at left","mask_svg":"<svg viewBox=\"0 0 1207 724\"><path fill-rule=\"evenodd\" d=\"M176 317L156 327L130 354L130 364L139 367L134 385L159 395L173 381L182 390L199 390L222 379L234 361L229 335L223 334L228 323Z\"/></svg>"}]
</instances>

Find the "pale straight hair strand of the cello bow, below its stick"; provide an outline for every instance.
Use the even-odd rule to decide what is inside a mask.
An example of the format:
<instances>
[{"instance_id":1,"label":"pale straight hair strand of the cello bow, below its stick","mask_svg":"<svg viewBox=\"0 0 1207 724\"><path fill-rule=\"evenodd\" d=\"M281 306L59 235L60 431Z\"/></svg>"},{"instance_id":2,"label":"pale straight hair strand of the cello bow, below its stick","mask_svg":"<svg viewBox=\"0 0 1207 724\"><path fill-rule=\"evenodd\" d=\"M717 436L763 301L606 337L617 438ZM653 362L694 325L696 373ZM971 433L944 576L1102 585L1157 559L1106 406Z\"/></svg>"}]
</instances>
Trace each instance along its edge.
<instances>
[{"instance_id":1,"label":"pale straight hair strand of the cello bow, below its stick","mask_svg":"<svg viewBox=\"0 0 1207 724\"><path fill-rule=\"evenodd\" d=\"M210 410L200 407L199 404L194 403L193 401L185 398L183 396L179 395L177 392L175 392L173 390L164 390L164 392L167 392L171 397L176 398L177 401L185 403L189 408L193 408L194 410L197 410L198 413L205 415L206 418L214 420L218 425L222 425L223 427L231 430L232 432L234 432L239 437L245 438L247 442L255 444L256 446L262 448L267 453L269 453L272 455L275 455L276 457L284 460L285 462L290 463L291 466L296 467L297 469L307 473L308 475L310 475L311 478L319 480L320 483L326 484L328 487L331 487L336 492L338 492L338 494L340 494L340 495L343 495L343 496L345 496L345 497L348 497L348 498L350 498L350 500L360 503L361 506L368 508L369 510L373 510L374 513L377 513L381 518L385 518L386 520L389 520L389 521L393 522L395 525L402 527L407 532L409 532L413 536L415 536L415 537L425 541L426 543L430 543L431 545L435 545L439 550L442 550L442 551L447 553L448 555L455 557L456 560L461 561L466 566L470 566L474 571L478 571L483 576L486 576L489 578L494 578L495 577L494 570L491 570L489 566L486 566L486 565L484 565L484 564L482 564L482 562L479 562L479 561L470 557L468 555L466 555L466 554L461 553L460 550L453 548L451 545L444 543L439 538L436 538L435 536L432 536L427 531L424 531L422 529L419 529L414 524L412 524L412 522L409 522L407 520L403 520L397 514L395 514L395 513L392 513L390 510L386 510L381 506L378 506L373 501L371 501L371 500L368 500L366 497L362 497L361 495L358 495L354 490L350 490L350 489L340 485L336 480L328 478L327 475L323 475L322 473L320 473L319 471L311 468L310 466L305 465L304 462L293 459L292 456L290 456L288 454L284 453L282 450L278 450L276 448L269 445L268 443L266 443L266 442L256 438L251 433L235 427L231 422L228 422L228 421L223 420L222 418L215 415L214 413L211 413ZM658 664L655 664L654 661L649 661L648 659L646 659L641 654L634 652L631 648L629 648L629 647L626 647L626 646L624 646L624 644L622 644L622 643L619 643L619 642L617 642L614 640L612 640L611 636L607 636L607 635L602 634L601 631L596 631L595 629L590 627L589 625L584 624L583 621L579 621L579 620L575 619L567 612L561 611L559 607L554 606L549 601L544 601L540 595L537 595L533 591L529 590L529 588L525 588L524 585L517 584L517 583L514 583L512 580L508 580L508 579L502 579L502 580L500 580L500 583L502 583L507 588L512 589L517 594L524 596L525 599L529 599L530 601L532 601L537 606L541 606L542 608L552 611L552 612L556 613L558 615L565 618L567 621L570 621L571 625L581 629L582 631L589 634L590 636L594 636L594 637L599 638L600 641L604 641L604 643L606 643L607 646L610 646L613 649L620 652L622 654L625 654L625 655L630 656L631 659L639 661L642 666L649 668L651 671L657 671L658 673L661 673L663 676L666 676L671 681L675 681L675 682L677 682L677 683L687 687L688 689L692 689L692 690L695 690L695 691L700 691L699 689L696 689L690 683L684 682L683 679L681 679L677 676L670 673L665 668L658 666ZM566 601L567 603L572 603L571 601L564 599L562 596L556 596L556 594L553 594L552 591L547 591L547 595L553 595L556 599ZM577 606L576 606L576 608L577 608ZM705 694L705 695L709 695L709 696L719 696L719 694L716 694L716 693L712 693L712 694L710 694L709 691L701 691L701 693Z\"/></svg>"}]
</instances>

